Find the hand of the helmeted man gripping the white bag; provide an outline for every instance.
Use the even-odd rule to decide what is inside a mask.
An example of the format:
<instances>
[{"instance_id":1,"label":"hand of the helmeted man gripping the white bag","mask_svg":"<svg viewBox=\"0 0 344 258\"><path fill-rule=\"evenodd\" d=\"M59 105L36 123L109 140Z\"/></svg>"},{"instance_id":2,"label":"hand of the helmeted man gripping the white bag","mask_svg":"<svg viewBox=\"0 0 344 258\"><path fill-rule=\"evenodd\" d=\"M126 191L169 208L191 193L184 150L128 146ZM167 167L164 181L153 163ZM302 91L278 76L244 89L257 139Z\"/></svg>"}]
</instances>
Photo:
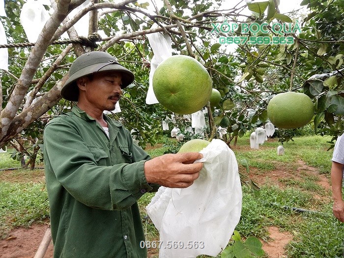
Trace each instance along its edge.
<instances>
[{"instance_id":1,"label":"hand of the helmeted man gripping the white bag","mask_svg":"<svg viewBox=\"0 0 344 258\"><path fill-rule=\"evenodd\" d=\"M144 163L146 180L170 188L186 188L199 177L203 163L193 163L202 157L199 152L186 152L148 160Z\"/></svg>"}]
</instances>

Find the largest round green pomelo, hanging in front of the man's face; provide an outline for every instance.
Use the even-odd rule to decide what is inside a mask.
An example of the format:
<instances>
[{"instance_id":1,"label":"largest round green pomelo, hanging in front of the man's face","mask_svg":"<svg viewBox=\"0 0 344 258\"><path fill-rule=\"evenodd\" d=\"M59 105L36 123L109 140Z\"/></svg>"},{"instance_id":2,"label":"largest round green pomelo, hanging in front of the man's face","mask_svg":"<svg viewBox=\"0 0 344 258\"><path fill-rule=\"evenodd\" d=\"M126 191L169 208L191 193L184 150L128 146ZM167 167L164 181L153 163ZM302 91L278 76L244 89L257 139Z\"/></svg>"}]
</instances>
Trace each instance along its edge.
<instances>
[{"instance_id":1,"label":"largest round green pomelo, hanging in front of the man's face","mask_svg":"<svg viewBox=\"0 0 344 258\"><path fill-rule=\"evenodd\" d=\"M176 55L165 59L156 68L153 91L163 107L176 114L187 115L207 104L212 81L195 58Z\"/></svg>"}]
</instances>

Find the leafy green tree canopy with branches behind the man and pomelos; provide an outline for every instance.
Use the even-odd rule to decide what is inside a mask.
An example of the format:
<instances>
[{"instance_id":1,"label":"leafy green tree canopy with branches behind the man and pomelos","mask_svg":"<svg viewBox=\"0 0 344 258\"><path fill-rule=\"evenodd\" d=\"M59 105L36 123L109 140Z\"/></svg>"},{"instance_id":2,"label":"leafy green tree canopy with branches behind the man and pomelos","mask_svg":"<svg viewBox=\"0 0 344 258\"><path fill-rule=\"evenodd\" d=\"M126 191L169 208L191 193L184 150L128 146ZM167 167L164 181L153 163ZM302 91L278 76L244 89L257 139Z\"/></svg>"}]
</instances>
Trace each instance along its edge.
<instances>
[{"instance_id":1,"label":"leafy green tree canopy with branches behind the man and pomelos","mask_svg":"<svg viewBox=\"0 0 344 258\"><path fill-rule=\"evenodd\" d=\"M13 141L23 130L30 134L29 125L34 121L40 120L37 126L42 127L51 117L75 105L62 100L59 91L68 79L67 71L73 60L93 50L115 55L134 72L135 83L125 90L120 101L122 112L114 117L130 130L135 129L133 134L143 147L154 144L162 135L162 117L171 115L158 104L145 104L149 61L153 56L146 35L154 32L171 36L173 55L195 57L209 71L213 87L222 95L219 106L213 110L211 126L227 128L228 143L266 123L269 99L287 90L304 91L313 98L317 133L336 138L343 132L342 0L303 0L301 5L309 10L303 20L297 20L301 17L297 14L281 14L277 0L248 4L242 1L229 8L223 8L221 0L164 0L160 9L151 2L94 0L69 19L67 15L84 2L52 1L51 6L45 6L51 17L35 45L8 48L9 69L1 71L0 146ZM22 0L5 0L7 17L1 17L1 21L8 43L27 41L18 21L23 4ZM252 14L242 14L245 8ZM64 32L71 40L80 39L73 25L86 13L90 14L92 25L89 35L98 30L106 34L96 42L97 46L76 41L52 45L62 39ZM244 31L244 23L265 23L266 31L258 34ZM276 33L274 26L286 23L287 31ZM215 30L216 24L223 26L219 27L223 31ZM235 30L225 33L226 24L236 24ZM250 36L257 37L256 42L239 44L235 51L229 51L230 44L220 41L220 38ZM293 43L263 44L266 42L262 37L291 38ZM328 76L316 77L319 74Z\"/></svg>"}]
</instances>

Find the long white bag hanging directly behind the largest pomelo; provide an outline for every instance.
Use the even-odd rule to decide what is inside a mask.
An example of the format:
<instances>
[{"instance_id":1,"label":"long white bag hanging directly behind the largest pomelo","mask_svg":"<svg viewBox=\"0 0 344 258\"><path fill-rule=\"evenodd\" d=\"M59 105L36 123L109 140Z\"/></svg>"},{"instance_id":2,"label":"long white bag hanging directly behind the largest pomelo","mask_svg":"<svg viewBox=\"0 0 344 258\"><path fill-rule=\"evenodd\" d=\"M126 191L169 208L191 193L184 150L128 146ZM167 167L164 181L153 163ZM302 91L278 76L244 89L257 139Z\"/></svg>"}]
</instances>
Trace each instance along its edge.
<instances>
[{"instance_id":1,"label":"long white bag hanging directly behind the largest pomelo","mask_svg":"<svg viewBox=\"0 0 344 258\"><path fill-rule=\"evenodd\" d=\"M154 28L158 28L158 25L154 24L151 29ZM146 104L155 104L159 103L159 101L155 97L153 91L153 74L162 61L168 57L172 57L172 41L171 37L163 32L147 34L146 37L148 38L149 45L154 53L154 56L150 61L149 86L146 96Z\"/></svg>"}]
</instances>

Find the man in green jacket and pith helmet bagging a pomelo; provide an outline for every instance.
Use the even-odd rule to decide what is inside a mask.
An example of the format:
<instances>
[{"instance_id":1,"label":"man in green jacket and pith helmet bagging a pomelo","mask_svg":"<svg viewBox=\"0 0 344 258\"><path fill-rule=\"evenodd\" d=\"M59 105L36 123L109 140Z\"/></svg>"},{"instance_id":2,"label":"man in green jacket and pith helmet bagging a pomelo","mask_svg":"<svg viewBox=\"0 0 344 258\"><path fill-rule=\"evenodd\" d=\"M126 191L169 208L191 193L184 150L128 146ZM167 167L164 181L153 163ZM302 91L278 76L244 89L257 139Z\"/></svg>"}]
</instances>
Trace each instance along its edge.
<instances>
[{"instance_id":1,"label":"man in green jacket and pith helmet bagging a pomelo","mask_svg":"<svg viewBox=\"0 0 344 258\"><path fill-rule=\"evenodd\" d=\"M71 65L61 96L78 101L44 130L44 161L54 257L143 258L147 250L137 200L160 185L184 188L199 176L202 155L150 159L130 132L103 115L114 110L131 71L104 52Z\"/></svg>"}]
</instances>

